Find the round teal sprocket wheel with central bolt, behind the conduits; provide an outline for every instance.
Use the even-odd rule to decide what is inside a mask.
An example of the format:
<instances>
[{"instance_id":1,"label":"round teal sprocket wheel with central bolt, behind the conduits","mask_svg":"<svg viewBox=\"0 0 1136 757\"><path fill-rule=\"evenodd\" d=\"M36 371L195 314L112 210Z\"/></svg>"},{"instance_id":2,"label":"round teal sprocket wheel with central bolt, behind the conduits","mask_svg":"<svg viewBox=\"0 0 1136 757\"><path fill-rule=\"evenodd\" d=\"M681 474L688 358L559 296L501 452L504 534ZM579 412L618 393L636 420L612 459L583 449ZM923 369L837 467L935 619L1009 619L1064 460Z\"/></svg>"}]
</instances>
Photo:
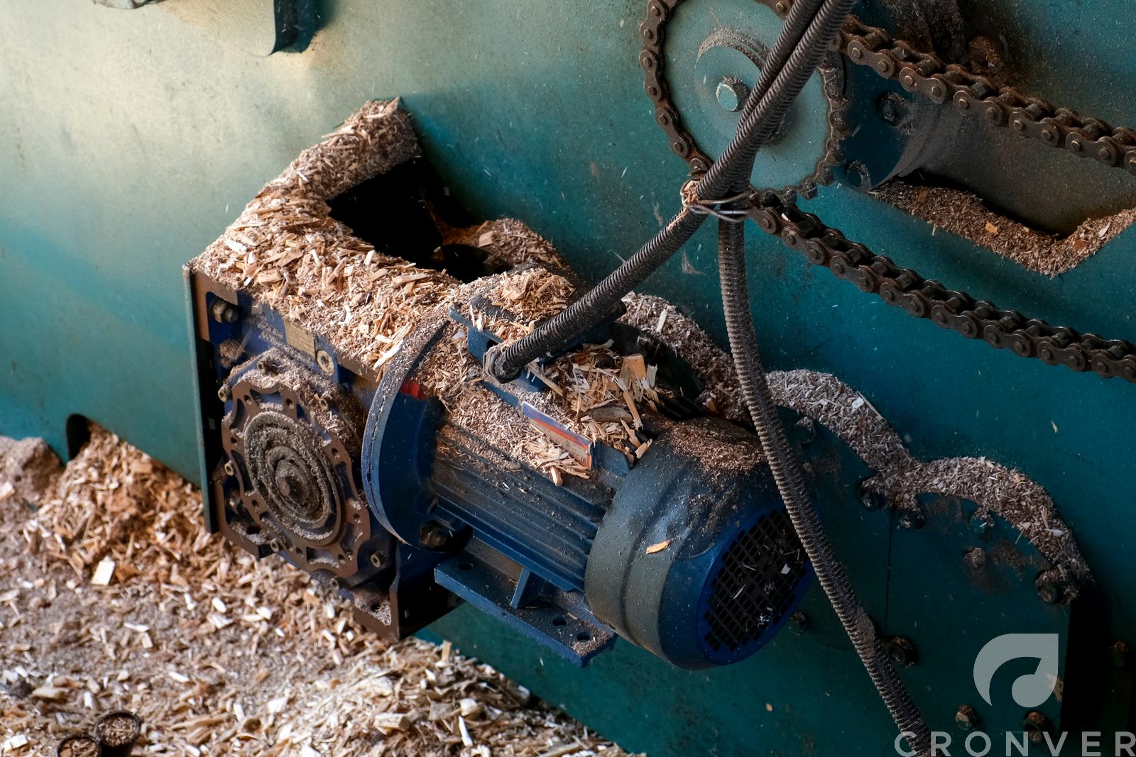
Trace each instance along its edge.
<instances>
[{"instance_id":1,"label":"round teal sprocket wheel with central bolt, behind the conduits","mask_svg":"<svg viewBox=\"0 0 1136 757\"><path fill-rule=\"evenodd\" d=\"M775 0L680 0L673 5L657 37L661 41L663 86L659 87L676 123L673 149L704 171L734 137L742 107L757 85L770 49L782 31ZM649 19L650 20L650 19ZM649 39L644 34L644 39ZM792 103L784 120L758 153L752 184L811 194L832 180L828 168L837 160L842 116L843 64L826 59ZM651 93L652 72L648 70ZM685 153L685 154L684 154Z\"/></svg>"}]
</instances>

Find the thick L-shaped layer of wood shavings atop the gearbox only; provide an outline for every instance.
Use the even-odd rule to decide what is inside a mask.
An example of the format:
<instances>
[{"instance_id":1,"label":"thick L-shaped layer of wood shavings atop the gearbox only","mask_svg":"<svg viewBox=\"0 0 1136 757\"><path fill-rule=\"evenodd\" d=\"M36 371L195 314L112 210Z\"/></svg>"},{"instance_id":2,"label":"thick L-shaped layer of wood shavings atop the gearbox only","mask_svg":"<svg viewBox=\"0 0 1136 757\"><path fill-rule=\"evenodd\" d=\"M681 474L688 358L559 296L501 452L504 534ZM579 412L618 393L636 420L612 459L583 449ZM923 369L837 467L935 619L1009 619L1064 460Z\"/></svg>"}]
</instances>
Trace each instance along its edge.
<instances>
[{"instance_id":1,"label":"thick L-shaped layer of wood shavings atop the gearbox only","mask_svg":"<svg viewBox=\"0 0 1136 757\"><path fill-rule=\"evenodd\" d=\"M418 154L398 101L368 103L304 150L190 262L321 334L340 360L379 371L421 316L458 281L378 254L334 220L327 201Z\"/></svg>"}]
</instances>

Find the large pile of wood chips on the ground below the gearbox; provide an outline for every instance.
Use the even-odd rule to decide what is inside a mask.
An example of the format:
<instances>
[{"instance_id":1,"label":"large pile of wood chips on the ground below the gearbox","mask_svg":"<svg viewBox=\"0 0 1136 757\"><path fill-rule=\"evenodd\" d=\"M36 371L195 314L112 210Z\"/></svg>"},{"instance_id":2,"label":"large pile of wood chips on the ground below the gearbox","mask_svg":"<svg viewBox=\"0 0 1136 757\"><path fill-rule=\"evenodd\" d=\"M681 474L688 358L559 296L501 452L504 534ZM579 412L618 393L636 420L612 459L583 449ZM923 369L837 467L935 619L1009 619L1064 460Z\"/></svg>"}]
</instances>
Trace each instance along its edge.
<instances>
[{"instance_id":1,"label":"large pile of wood chips on the ground below the gearbox","mask_svg":"<svg viewBox=\"0 0 1136 757\"><path fill-rule=\"evenodd\" d=\"M387 647L307 574L204 535L197 490L106 431L41 497L5 483L0 754L53 754L128 709L147 755L624 755L449 645Z\"/></svg>"}]
</instances>

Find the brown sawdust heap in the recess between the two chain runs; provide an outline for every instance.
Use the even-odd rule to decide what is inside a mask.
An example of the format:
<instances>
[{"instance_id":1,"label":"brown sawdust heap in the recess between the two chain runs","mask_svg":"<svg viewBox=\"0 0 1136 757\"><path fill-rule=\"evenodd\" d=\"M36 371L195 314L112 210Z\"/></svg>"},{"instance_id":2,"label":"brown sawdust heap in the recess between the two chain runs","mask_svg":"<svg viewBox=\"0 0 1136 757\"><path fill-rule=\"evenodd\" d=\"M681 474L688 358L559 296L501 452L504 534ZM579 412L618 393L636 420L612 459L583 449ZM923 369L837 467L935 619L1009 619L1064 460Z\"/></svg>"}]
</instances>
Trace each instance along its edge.
<instances>
[{"instance_id":1,"label":"brown sawdust heap in the recess between the two chain runs","mask_svg":"<svg viewBox=\"0 0 1136 757\"><path fill-rule=\"evenodd\" d=\"M957 234L1038 274L1058 276L1085 262L1136 222L1136 208L1084 221L1058 238L988 210L982 197L945 187L892 179L871 193L879 200Z\"/></svg>"}]
</instances>

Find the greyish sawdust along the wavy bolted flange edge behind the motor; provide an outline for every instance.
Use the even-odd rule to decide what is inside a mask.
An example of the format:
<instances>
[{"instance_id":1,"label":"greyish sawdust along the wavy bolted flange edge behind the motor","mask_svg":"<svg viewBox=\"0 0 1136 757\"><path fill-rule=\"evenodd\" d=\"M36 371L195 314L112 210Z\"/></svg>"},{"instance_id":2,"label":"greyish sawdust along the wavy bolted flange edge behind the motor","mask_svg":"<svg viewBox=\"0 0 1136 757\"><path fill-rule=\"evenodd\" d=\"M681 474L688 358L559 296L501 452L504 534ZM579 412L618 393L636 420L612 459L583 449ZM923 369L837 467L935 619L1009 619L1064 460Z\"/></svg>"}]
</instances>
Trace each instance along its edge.
<instances>
[{"instance_id":1,"label":"greyish sawdust along the wavy bolted flange edge behind the motor","mask_svg":"<svg viewBox=\"0 0 1136 757\"><path fill-rule=\"evenodd\" d=\"M729 355L693 320L668 310L669 305L657 297L630 295L627 304L625 320L655 334L691 362L708 386L725 387L733 397L741 397ZM863 395L829 373L771 371L768 380L778 405L833 431L876 471L866 486L884 494L894 507L918 507L916 497L920 494L969 499L1020 531L1054 565L1068 583L1068 592L1092 581L1088 564L1053 499L1020 471L985 457L918 460ZM737 401L720 404L719 410L735 422L747 422Z\"/></svg>"}]
</instances>

